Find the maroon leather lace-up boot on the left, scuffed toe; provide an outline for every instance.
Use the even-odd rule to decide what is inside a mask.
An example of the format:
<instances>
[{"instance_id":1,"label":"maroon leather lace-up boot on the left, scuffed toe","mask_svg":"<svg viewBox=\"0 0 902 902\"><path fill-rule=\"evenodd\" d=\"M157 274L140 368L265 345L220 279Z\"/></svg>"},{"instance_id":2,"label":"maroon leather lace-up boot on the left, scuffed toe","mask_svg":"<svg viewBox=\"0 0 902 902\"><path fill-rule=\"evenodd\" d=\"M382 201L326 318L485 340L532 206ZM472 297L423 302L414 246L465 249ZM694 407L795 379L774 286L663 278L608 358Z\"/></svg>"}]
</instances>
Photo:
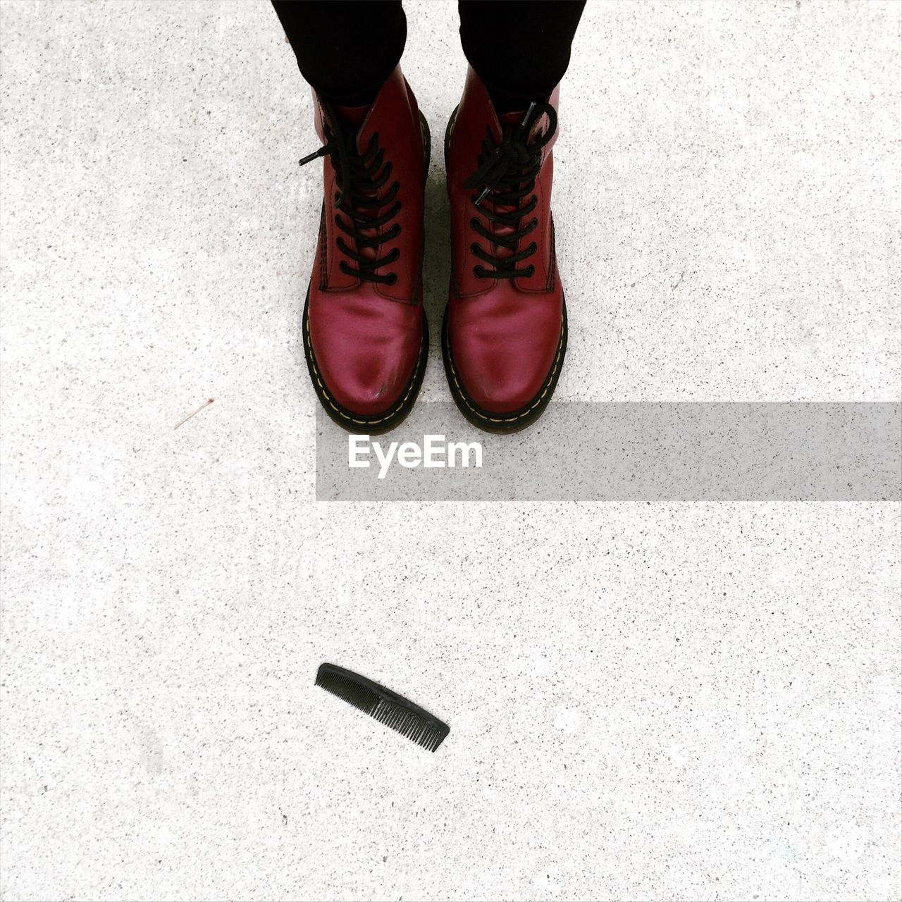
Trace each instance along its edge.
<instances>
[{"instance_id":1,"label":"maroon leather lace-up boot on the left, scuffed toe","mask_svg":"<svg viewBox=\"0 0 902 902\"><path fill-rule=\"evenodd\" d=\"M400 67L368 107L314 94L325 197L304 306L310 378L328 415L378 434L410 412L423 381L423 190L429 132Z\"/></svg>"}]
</instances>

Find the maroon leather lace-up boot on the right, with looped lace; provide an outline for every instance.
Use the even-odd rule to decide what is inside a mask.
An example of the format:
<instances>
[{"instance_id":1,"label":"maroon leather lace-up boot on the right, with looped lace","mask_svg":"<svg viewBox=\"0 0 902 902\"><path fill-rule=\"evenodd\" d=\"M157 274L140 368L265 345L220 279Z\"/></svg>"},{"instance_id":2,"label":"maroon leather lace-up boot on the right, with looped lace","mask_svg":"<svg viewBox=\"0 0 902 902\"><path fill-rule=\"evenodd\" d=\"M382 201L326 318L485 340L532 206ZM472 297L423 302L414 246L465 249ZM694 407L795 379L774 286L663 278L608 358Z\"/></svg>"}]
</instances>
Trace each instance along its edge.
<instances>
[{"instance_id":1,"label":"maroon leather lace-up boot on the right, with looped lace","mask_svg":"<svg viewBox=\"0 0 902 902\"><path fill-rule=\"evenodd\" d=\"M448 123L451 286L442 350L466 419L490 432L529 426L566 352L566 307L551 219L557 88L497 115L473 69Z\"/></svg>"}]
</instances>

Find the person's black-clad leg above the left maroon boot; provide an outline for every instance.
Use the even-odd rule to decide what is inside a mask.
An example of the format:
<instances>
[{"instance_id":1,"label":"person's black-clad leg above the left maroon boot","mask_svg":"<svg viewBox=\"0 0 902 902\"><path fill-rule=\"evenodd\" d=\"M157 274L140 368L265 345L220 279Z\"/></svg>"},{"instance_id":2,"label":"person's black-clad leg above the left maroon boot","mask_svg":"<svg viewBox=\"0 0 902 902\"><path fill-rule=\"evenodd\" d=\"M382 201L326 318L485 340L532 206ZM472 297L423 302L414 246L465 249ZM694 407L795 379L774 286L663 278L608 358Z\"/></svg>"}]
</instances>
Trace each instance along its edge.
<instances>
[{"instance_id":1,"label":"person's black-clad leg above the left maroon boot","mask_svg":"<svg viewBox=\"0 0 902 902\"><path fill-rule=\"evenodd\" d=\"M407 40L400 0L272 0L298 59L320 97L370 104L398 65Z\"/></svg>"}]
</instances>

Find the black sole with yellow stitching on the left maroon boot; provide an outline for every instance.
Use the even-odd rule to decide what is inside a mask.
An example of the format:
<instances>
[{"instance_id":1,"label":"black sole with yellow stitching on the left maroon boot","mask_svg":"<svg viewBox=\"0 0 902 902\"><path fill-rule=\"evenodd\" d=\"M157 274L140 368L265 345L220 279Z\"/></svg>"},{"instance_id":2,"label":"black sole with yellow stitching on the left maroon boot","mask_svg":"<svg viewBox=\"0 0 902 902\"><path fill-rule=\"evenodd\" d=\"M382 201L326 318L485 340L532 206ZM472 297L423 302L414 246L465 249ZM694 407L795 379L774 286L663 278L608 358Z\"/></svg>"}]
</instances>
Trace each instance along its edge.
<instances>
[{"instance_id":1,"label":"black sole with yellow stitching on the left maroon boot","mask_svg":"<svg viewBox=\"0 0 902 902\"><path fill-rule=\"evenodd\" d=\"M429 126L426 121L426 117L422 113L419 114L419 126L423 133L423 157L425 171L425 178L423 179L423 194L425 198L426 180L428 179L429 159L432 148L430 145L431 139L429 135ZM422 258L420 258L419 261L419 272L420 281L422 281ZM388 432L389 430L400 426L400 424L405 419L407 419L408 414L410 414L410 410L413 409L413 405L417 401L420 386L423 384L423 376L426 373L426 362L429 355L429 325L426 318L425 308L420 305L420 312L422 313L422 333L419 339L419 354L417 355L417 362L413 366L413 373L410 376L410 380L400 392L400 399L395 401L395 403L390 408L387 408L380 413L374 413L371 416L365 416L364 414L354 413L353 410L348 410L347 408L343 407L329 393L326 387L326 383L323 381L322 375L319 373L316 355L313 353L313 344L310 340L309 307L310 288L308 285L307 297L304 300L304 318L301 324L301 331L303 332L304 336L304 356L307 358L307 368L310 373L310 381L313 382L313 390L316 391L319 403L322 404L323 410L327 412L329 418L332 419L333 422L335 422L338 426L348 432L358 434L365 432L366 434L373 436L382 435L383 432Z\"/></svg>"}]
</instances>

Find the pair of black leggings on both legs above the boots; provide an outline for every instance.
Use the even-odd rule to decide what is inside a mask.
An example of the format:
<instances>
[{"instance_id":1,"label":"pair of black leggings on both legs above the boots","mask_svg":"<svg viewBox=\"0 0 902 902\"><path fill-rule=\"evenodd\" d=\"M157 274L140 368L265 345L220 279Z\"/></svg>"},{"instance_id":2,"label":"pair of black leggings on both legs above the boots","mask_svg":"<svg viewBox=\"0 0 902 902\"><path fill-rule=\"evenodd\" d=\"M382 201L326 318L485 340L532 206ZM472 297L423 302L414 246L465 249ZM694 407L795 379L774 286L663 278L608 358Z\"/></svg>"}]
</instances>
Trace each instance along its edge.
<instances>
[{"instance_id":1,"label":"pair of black leggings on both legs above the boots","mask_svg":"<svg viewBox=\"0 0 902 902\"><path fill-rule=\"evenodd\" d=\"M272 0L300 74L342 106L371 103L407 39L400 0ZM499 112L547 97L564 77L584 0L461 0L467 61Z\"/></svg>"}]
</instances>

